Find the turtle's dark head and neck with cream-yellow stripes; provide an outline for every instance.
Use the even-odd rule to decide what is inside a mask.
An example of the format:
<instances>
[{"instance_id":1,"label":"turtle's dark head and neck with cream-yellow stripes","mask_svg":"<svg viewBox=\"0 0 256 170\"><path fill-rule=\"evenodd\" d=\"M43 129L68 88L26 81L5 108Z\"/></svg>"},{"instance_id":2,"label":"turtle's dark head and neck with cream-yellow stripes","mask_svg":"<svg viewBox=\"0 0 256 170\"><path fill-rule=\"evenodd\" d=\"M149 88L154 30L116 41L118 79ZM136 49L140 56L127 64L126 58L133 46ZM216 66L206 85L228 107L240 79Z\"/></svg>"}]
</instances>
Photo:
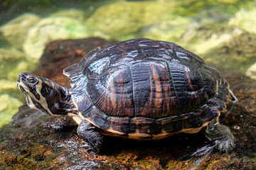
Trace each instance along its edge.
<instances>
[{"instance_id":1,"label":"turtle's dark head and neck with cream-yellow stripes","mask_svg":"<svg viewBox=\"0 0 256 170\"><path fill-rule=\"evenodd\" d=\"M17 85L32 109L48 115L66 115L75 112L68 89L49 79L23 72L18 76Z\"/></svg>"}]
</instances>

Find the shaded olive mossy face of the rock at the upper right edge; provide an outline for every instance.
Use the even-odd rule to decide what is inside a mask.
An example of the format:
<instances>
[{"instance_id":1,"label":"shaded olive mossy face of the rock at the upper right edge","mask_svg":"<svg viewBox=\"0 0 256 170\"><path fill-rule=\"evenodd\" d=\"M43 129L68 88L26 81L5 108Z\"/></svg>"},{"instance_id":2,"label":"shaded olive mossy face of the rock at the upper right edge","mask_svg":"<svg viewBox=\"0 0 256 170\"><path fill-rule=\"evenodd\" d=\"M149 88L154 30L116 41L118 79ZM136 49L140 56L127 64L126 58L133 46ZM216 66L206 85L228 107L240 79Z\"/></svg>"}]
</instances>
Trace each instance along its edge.
<instances>
[{"instance_id":1,"label":"shaded olive mossy face of the rock at the upper right edge","mask_svg":"<svg viewBox=\"0 0 256 170\"><path fill-rule=\"evenodd\" d=\"M204 56L206 62L245 73L256 62L256 36L242 32L208 50Z\"/></svg>"}]
</instances>

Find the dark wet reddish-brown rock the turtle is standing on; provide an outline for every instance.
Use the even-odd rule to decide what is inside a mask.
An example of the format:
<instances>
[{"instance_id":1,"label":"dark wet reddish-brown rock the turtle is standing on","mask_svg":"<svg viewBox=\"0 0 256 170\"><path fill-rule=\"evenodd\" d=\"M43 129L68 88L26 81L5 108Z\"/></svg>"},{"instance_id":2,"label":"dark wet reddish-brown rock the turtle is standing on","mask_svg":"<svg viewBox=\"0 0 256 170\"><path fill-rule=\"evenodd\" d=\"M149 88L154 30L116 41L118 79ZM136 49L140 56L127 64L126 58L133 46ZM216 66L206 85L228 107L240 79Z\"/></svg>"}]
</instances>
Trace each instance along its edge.
<instances>
[{"instance_id":1,"label":"dark wet reddish-brown rock the turtle is standing on","mask_svg":"<svg viewBox=\"0 0 256 170\"><path fill-rule=\"evenodd\" d=\"M73 44L63 47L69 45ZM52 63L45 64L37 74L61 82L63 64L78 61L82 55L66 57L59 47L56 45L48 58ZM55 60L58 56L63 61ZM60 74L55 69L60 69ZM236 147L228 154L213 152L198 169L256 169L256 81L232 70L219 70L239 99L235 105L230 103L220 117L221 123L232 130ZM201 132L158 141L105 137L102 152L95 154L85 149L77 127L68 116L53 118L22 106L13 122L0 129L0 169L188 169L195 159L178 159L210 145Z\"/></svg>"}]
</instances>

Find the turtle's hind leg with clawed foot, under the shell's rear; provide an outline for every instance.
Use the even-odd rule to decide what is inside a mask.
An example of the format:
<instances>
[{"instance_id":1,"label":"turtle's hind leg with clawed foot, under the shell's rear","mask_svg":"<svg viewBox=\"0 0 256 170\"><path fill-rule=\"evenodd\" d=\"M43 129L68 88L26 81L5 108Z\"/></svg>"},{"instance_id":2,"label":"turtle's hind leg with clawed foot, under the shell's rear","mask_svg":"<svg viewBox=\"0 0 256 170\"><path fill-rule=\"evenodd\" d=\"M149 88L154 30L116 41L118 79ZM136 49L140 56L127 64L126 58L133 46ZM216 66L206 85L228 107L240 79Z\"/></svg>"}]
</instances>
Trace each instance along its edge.
<instances>
[{"instance_id":1,"label":"turtle's hind leg with clawed foot, under the shell's rear","mask_svg":"<svg viewBox=\"0 0 256 170\"><path fill-rule=\"evenodd\" d=\"M229 152L235 147L235 137L233 136L230 128L218 123L215 119L203 129L204 134L208 140L215 144L215 148L221 152Z\"/></svg>"}]
</instances>

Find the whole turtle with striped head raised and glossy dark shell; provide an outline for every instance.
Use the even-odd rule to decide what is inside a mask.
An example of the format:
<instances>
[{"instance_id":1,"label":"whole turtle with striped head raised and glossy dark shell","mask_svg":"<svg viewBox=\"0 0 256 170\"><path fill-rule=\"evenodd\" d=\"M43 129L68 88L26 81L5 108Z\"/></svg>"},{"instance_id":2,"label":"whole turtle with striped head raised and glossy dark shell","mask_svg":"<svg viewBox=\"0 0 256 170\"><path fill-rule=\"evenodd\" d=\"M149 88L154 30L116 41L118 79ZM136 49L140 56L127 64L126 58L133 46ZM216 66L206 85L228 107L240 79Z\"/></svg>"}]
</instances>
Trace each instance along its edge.
<instances>
[{"instance_id":1,"label":"whole turtle with striped head raised and glossy dark shell","mask_svg":"<svg viewBox=\"0 0 256 170\"><path fill-rule=\"evenodd\" d=\"M73 118L93 152L104 135L160 140L200 131L220 151L235 147L219 117L238 98L216 69L175 43L137 38L102 45L63 74L70 88L23 72L18 89L30 108Z\"/></svg>"}]
</instances>

